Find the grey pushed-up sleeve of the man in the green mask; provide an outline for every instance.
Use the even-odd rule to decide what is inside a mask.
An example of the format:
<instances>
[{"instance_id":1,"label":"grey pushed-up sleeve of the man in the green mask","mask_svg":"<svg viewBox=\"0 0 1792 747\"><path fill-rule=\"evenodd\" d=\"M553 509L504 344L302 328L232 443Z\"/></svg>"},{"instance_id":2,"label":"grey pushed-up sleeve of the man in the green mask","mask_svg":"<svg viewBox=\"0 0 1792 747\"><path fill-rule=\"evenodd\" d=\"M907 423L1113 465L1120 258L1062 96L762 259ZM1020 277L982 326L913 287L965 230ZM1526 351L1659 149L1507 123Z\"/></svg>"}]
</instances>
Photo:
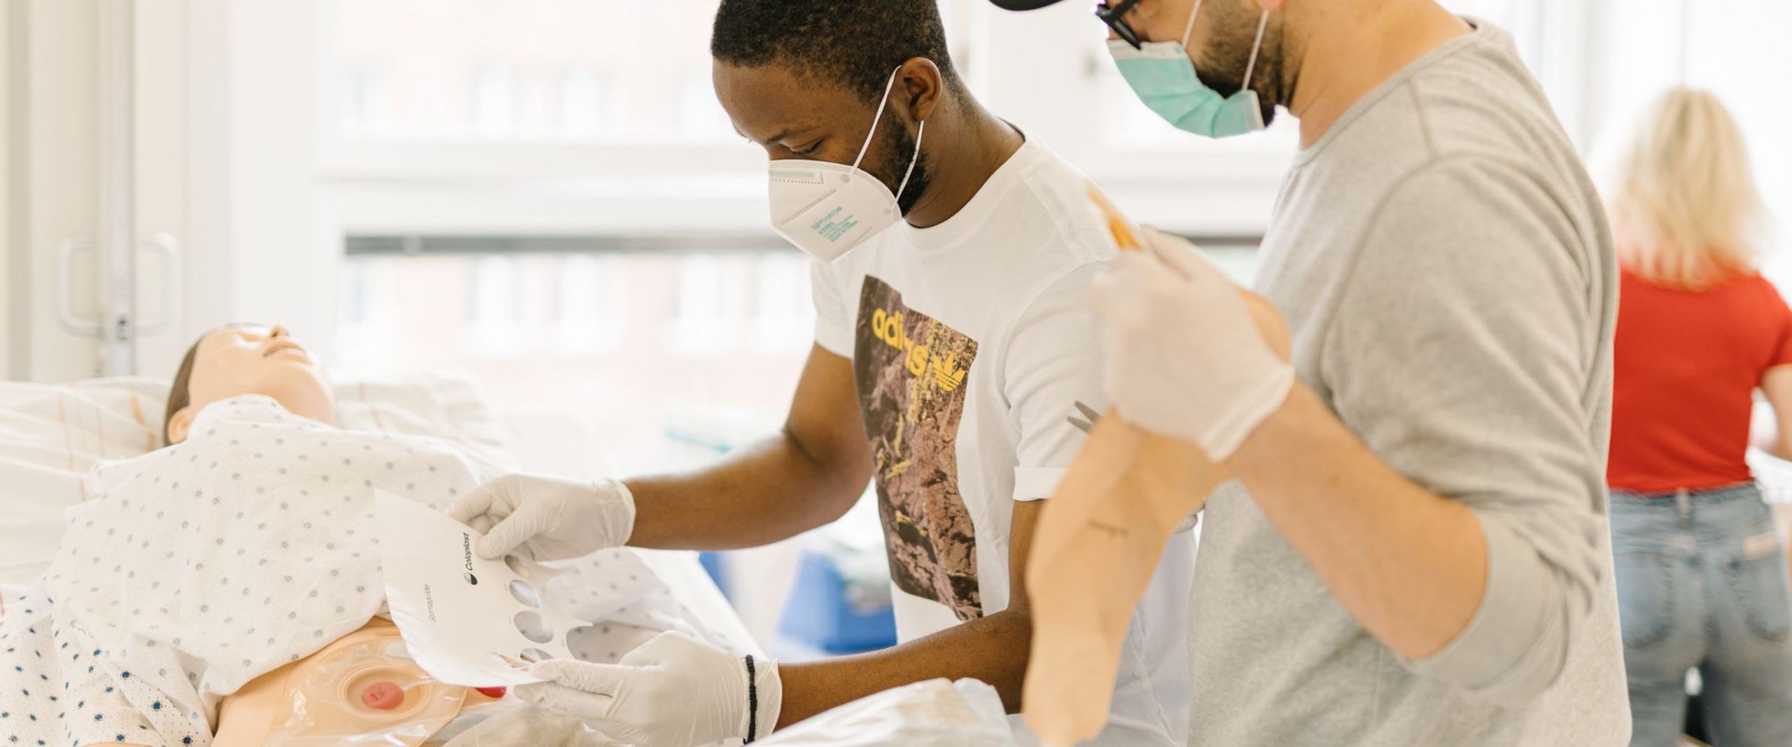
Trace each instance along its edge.
<instances>
[{"instance_id":1,"label":"grey pushed-up sleeve of the man in the green mask","mask_svg":"<svg viewBox=\"0 0 1792 747\"><path fill-rule=\"evenodd\" d=\"M1491 159L1450 159L1378 213L1321 369L1383 460L1468 505L1487 546L1469 625L1409 665L1498 702L1554 684L1606 582L1609 310L1600 236ZM1595 249L1597 251L1597 249Z\"/></svg>"}]
</instances>

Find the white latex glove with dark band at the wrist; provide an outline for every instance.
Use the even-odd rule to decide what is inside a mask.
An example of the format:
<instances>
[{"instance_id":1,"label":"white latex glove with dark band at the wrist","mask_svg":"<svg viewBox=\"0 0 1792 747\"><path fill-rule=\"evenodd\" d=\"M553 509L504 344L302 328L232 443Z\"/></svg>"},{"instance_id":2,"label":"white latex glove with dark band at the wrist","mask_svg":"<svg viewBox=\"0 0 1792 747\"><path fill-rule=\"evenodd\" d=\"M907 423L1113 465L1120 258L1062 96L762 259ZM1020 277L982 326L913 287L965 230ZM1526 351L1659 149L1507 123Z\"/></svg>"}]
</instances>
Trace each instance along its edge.
<instances>
[{"instance_id":1,"label":"white latex glove with dark band at the wrist","mask_svg":"<svg viewBox=\"0 0 1792 747\"><path fill-rule=\"evenodd\" d=\"M548 659L529 668L545 679L511 691L572 713L624 743L694 747L720 740L763 738L778 726L783 683L778 665L747 659L677 632L661 632L616 665ZM754 700L758 709L749 709Z\"/></svg>"}]
</instances>

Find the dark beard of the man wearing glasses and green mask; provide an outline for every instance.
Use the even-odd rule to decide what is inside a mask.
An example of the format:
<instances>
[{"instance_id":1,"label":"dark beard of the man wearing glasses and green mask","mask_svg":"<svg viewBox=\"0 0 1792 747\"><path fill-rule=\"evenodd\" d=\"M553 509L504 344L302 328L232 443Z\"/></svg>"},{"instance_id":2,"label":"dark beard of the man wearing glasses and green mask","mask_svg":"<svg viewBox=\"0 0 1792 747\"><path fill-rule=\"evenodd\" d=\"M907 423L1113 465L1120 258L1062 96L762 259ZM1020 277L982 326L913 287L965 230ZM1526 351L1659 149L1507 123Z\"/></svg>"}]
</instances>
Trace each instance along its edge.
<instances>
[{"instance_id":1,"label":"dark beard of the man wearing glasses and green mask","mask_svg":"<svg viewBox=\"0 0 1792 747\"><path fill-rule=\"evenodd\" d=\"M1262 11L1254 4L1210 2L1201 5L1213 13L1213 34L1195 61L1195 77L1222 97L1231 99L1245 88L1245 68L1251 66L1251 47L1256 45L1256 27ZM1287 81L1281 75L1281 16L1271 16L1263 29L1263 47L1251 72L1258 104L1263 106L1263 125L1276 120L1276 107L1287 104Z\"/></svg>"}]
</instances>

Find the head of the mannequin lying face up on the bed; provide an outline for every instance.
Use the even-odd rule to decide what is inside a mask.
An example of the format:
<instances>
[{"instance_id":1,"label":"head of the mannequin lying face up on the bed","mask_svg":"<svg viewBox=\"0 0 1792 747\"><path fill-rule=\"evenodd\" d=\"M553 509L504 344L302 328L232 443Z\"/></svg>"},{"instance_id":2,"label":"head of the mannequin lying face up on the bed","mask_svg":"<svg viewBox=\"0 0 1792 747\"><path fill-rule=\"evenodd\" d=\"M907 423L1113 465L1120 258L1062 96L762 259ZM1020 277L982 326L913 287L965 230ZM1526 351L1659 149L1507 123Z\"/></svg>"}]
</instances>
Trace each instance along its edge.
<instances>
[{"instance_id":1,"label":"head of the mannequin lying face up on the bed","mask_svg":"<svg viewBox=\"0 0 1792 747\"><path fill-rule=\"evenodd\" d=\"M242 394L265 394L299 417L330 423L335 398L323 364L283 326L228 324L194 342L168 391L163 437L186 441L206 405Z\"/></svg>"}]
</instances>

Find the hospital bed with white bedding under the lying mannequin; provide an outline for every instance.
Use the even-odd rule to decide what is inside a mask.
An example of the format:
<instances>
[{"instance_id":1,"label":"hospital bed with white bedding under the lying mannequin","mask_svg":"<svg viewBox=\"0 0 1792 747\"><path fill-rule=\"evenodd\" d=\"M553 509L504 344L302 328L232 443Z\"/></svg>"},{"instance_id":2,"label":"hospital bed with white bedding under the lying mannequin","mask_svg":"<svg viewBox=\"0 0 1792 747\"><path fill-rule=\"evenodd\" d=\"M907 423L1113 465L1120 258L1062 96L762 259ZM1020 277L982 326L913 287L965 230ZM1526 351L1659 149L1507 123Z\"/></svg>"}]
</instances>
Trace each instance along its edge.
<instances>
[{"instance_id":1,"label":"hospital bed with white bedding under the lying mannequin","mask_svg":"<svg viewBox=\"0 0 1792 747\"><path fill-rule=\"evenodd\" d=\"M599 477L591 473L595 439L579 417L495 408L466 376L349 382L335 394L344 428L453 441L507 469ZM156 378L0 383L0 614L50 564L63 511L86 498L91 466L159 446L167 396L168 383ZM695 554L640 554L713 632L762 652Z\"/></svg>"}]
</instances>

